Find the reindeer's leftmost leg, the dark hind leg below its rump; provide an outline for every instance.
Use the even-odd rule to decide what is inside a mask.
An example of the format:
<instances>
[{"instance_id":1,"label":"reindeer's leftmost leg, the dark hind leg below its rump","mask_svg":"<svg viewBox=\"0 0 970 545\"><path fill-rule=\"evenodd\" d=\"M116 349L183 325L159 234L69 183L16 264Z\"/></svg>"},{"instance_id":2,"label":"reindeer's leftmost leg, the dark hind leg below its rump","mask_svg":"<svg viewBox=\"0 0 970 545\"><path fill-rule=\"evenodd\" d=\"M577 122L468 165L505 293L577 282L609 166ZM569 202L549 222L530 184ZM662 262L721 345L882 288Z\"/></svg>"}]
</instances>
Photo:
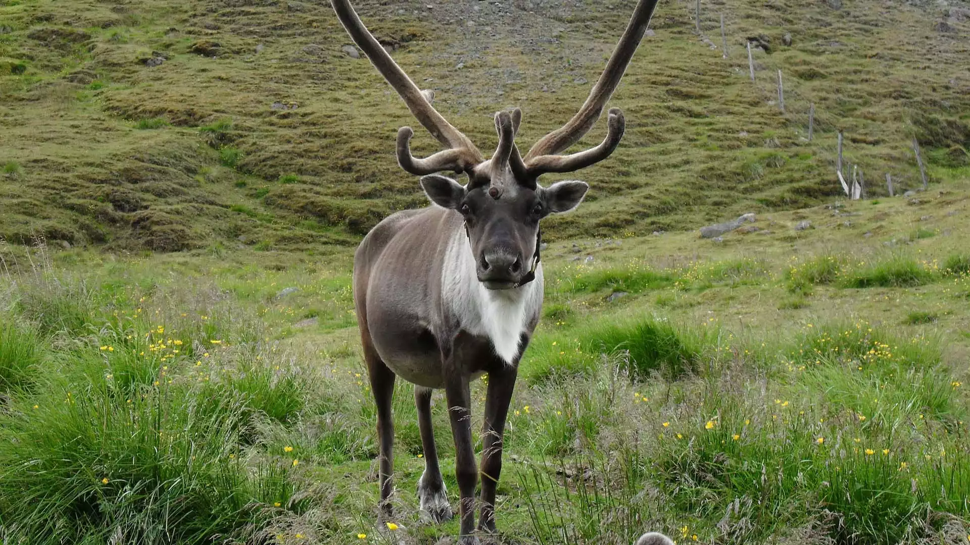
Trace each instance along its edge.
<instances>
[{"instance_id":1,"label":"reindeer's leftmost leg, the dark hind leg below its rump","mask_svg":"<svg viewBox=\"0 0 970 545\"><path fill-rule=\"evenodd\" d=\"M394 419L391 417L391 401L394 397L394 372L388 369L373 347L370 333L362 328L364 359L367 360L371 377L373 401L377 404L377 439L380 444L380 512L387 518L391 513L391 493L394 491Z\"/></svg>"}]
</instances>

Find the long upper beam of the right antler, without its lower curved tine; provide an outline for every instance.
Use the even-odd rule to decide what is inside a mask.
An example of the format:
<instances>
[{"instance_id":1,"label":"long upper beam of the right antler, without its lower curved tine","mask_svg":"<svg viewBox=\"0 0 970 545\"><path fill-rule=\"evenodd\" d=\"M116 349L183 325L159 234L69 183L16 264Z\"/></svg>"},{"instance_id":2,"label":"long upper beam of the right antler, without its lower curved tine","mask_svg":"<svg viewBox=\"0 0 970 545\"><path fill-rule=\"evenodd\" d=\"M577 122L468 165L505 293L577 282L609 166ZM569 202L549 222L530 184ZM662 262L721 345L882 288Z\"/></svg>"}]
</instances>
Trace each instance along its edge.
<instances>
[{"instance_id":1,"label":"long upper beam of the right antler, without its lower curved tine","mask_svg":"<svg viewBox=\"0 0 970 545\"><path fill-rule=\"evenodd\" d=\"M572 116L572 119L569 119L566 125L542 137L533 145L529 153L526 154L527 165L531 165L532 160L536 157L563 151L578 142L593 128L603 107L606 106L606 102L609 101L609 97L616 90L623 73L627 70L633 52L640 45L640 40L643 39L643 34L647 31L647 25L650 23L650 17L653 16L654 8L657 7L657 2L658 0L640 0L636 5L633 15L630 16L630 22L627 24L627 30L624 31L616 49L613 50L613 54L606 63L606 68L599 76L597 84L593 86L593 90L583 107Z\"/></svg>"}]
</instances>

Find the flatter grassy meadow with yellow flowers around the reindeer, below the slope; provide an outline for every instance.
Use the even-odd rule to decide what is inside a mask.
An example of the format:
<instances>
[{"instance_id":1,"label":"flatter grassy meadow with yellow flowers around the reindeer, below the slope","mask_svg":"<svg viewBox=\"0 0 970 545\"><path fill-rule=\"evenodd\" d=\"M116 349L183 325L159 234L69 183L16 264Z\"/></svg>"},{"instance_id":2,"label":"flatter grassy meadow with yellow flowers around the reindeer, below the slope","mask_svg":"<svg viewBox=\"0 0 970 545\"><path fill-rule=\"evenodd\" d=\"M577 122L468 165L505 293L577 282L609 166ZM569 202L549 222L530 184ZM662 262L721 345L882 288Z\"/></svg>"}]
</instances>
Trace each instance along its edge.
<instances>
[{"instance_id":1,"label":"flatter grassy meadow with yellow flowers around the reindeer, below the slope","mask_svg":"<svg viewBox=\"0 0 970 545\"><path fill-rule=\"evenodd\" d=\"M960 182L760 214L721 242L550 243L501 542L629 545L658 529L679 543L964 543L968 203ZM349 248L18 255L7 263L25 272L0 278L12 542L431 545L457 531L418 520L424 461L400 382L399 528L374 523ZM478 430L485 386L472 391Z\"/></svg>"}]
</instances>

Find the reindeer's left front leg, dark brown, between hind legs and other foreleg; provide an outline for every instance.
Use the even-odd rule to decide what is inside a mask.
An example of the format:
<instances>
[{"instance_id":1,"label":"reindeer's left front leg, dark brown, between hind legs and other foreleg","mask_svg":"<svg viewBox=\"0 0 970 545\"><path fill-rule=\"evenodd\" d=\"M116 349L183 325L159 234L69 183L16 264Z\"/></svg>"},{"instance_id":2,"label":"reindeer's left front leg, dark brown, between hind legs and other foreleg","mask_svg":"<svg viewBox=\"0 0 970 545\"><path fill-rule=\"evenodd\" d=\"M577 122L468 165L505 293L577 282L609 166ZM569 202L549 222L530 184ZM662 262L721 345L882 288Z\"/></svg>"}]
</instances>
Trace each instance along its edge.
<instances>
[{"instance_id":1,"label":"reindeer's left front leg, dark brown, between hind legs and other foreleg","mask_svg":"<svg viewBox=\"0 0 970 545\"><path fill-rule=\"evenodd\" d=\"M475 484L478 470L475 467L475 452L471 445L471 396L469 394L469 375L463 366L454 361L454 354L445 358L444 394L448 401L448 414L451 417L451 433L455 438L455 477L461 499L458 511L461 516L459 545L478 545L478 538L472 533L475 524Z\"/></svg>"}]
</instances>

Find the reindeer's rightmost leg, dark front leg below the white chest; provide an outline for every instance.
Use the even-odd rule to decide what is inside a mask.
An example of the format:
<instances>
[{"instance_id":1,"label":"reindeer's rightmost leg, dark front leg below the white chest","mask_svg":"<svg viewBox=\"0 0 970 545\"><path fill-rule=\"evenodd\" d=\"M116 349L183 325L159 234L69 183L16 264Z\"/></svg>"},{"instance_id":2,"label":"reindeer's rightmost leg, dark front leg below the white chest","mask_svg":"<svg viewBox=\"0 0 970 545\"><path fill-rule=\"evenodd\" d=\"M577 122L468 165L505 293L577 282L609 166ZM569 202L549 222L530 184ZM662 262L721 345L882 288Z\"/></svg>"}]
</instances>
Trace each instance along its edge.
<instances>
[{"instance_id":1,"label":"reindeer's rightmost leg, dark front leg below the white chest","mask_svg":"<svg viewBox=\"0 0 970 545\"><path fill-rule=\"evenodd\" d=\"M495 490L501 474L502 435L508 403L512 400L518 366L501 362L498 369L488 373L488 398L485 401L485 421L482 426L482 512L479 531L495 533Z\"/></svg>"}]
</instances>

